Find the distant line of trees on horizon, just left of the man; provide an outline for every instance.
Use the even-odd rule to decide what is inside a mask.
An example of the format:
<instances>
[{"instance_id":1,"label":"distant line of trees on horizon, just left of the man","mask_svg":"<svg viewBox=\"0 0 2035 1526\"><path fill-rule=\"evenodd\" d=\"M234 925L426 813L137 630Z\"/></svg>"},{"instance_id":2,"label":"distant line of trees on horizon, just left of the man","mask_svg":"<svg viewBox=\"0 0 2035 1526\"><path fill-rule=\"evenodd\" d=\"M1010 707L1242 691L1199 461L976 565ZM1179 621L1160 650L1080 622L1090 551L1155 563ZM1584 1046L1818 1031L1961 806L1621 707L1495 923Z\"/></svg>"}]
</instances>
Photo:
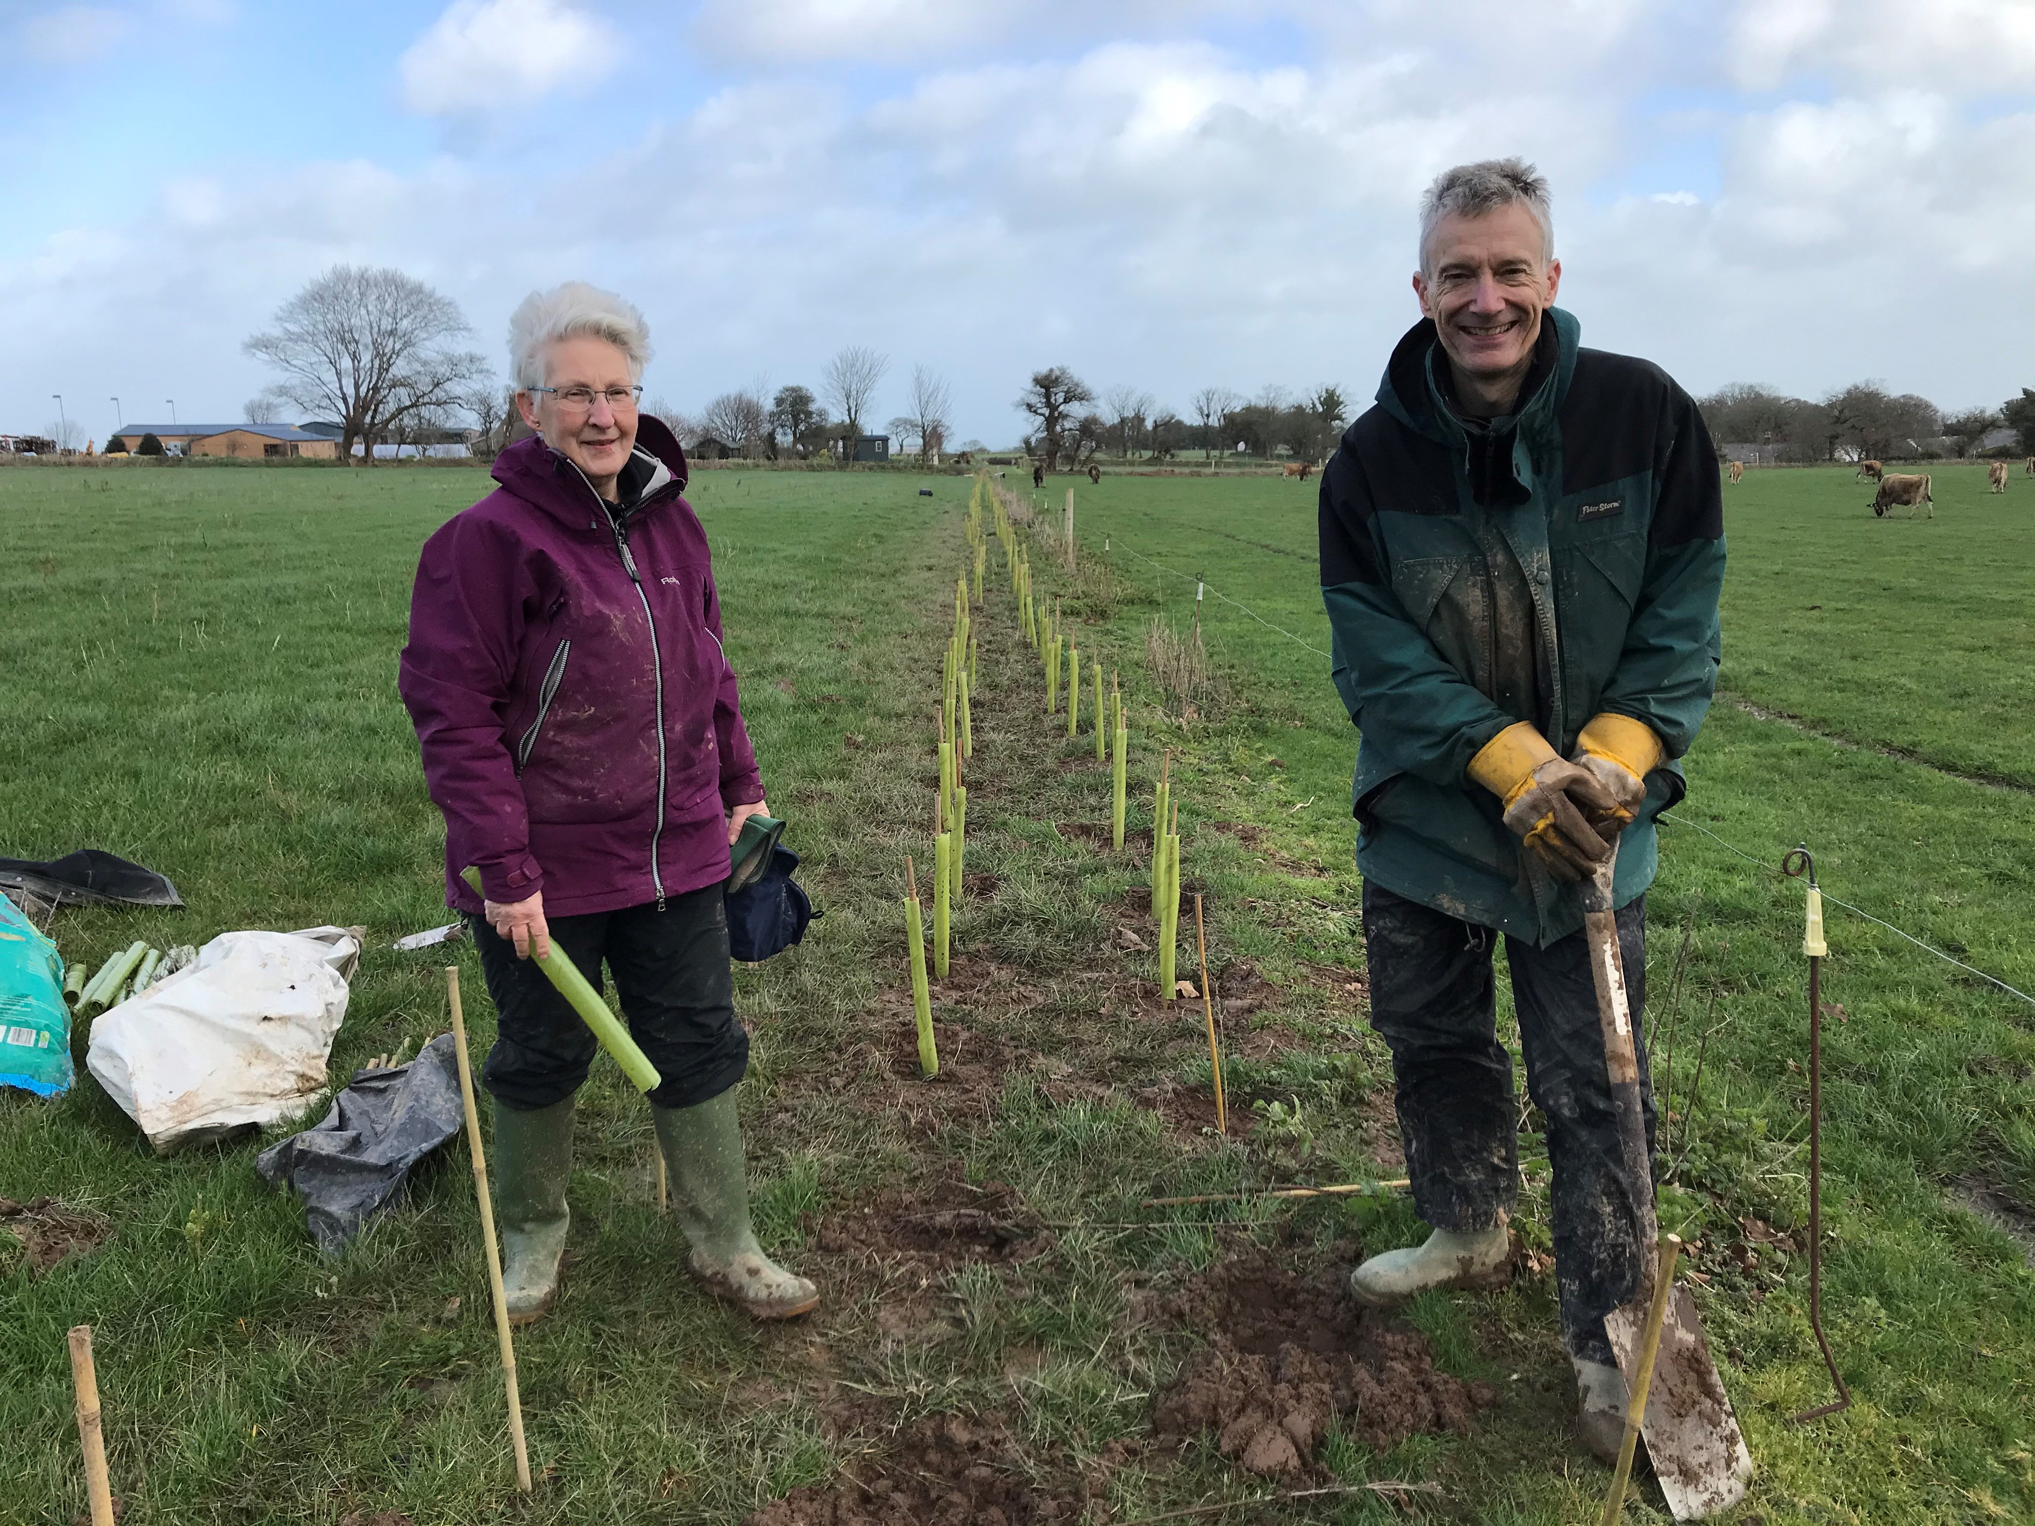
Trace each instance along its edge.
<instances>
[{"instance_id":1,"label":"distant line of trees on horizon, just left of the man","mask_svg":"<svg viewBox=\"0 0 2035 1526\"><path fill-rule=\"evenodd\" d=\"M1164 460L1195 450L1205 458L1284 452L1319 462L1349 423L1349 399L1335 385L1306 395L1274 385L1249 399L1227 387L1203 387L1188 399L1190 417L1182 419L1136 387L1097 395L1068 366L1034 370L1015 407L1032 421L1024 452L1048 472L1081 472L1103 454Z\"/></svg>"}]
</instances>

